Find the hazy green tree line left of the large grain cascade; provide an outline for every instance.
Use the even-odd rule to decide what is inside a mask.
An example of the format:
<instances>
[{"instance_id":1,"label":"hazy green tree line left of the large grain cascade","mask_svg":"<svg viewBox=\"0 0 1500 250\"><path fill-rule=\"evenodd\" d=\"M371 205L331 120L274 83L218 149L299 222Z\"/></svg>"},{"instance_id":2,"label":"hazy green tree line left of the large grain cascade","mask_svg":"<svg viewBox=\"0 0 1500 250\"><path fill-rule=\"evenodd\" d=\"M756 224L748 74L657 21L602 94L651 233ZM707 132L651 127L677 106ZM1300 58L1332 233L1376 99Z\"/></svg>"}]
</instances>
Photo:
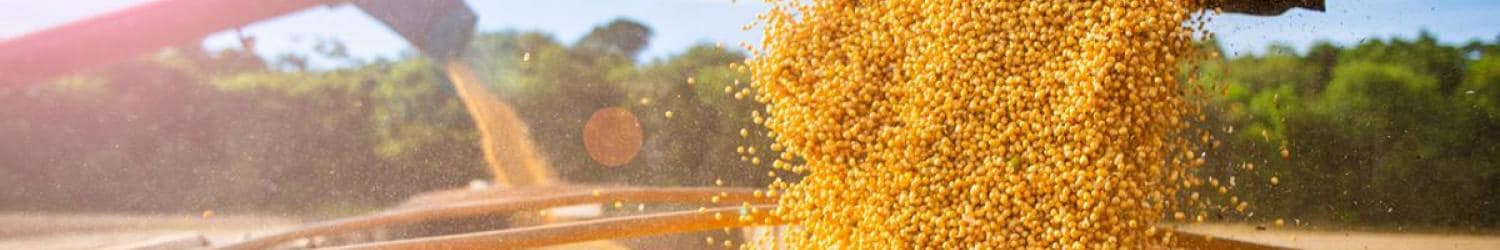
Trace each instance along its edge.
<instances>
[{"instance_id":1,"label":"hazy green tree line left of the large grain cascade","mask_svg":"<svg viewBox=\"0 0 1500 250\"><path fill-rule=\"evenodd\" d=\"M747 87L728 67L746 55L702 43L638 63L650 36L630 19L572 43L492 31L464 60L567 183L766 183L735 154L750 142L738 130L754 105L723 91ZM320 45L321 57L348 60L342 51ZM489 178L478 133L435 63L308 70L308 57L177 46L0 88L0 210L344 214ZM604 168L582 145L584 123L606 106L632 111L645 132L626 166Z\"/></svg>"}]
</instances>

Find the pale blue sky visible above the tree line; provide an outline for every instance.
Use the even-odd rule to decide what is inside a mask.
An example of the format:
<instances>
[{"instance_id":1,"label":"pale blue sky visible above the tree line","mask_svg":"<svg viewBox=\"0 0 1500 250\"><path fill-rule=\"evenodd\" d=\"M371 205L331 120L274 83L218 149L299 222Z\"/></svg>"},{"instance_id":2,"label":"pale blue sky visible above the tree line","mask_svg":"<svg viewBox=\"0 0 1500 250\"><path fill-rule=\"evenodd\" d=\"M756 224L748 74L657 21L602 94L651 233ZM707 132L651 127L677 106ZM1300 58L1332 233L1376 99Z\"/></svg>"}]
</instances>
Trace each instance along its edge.
<instances>
[{"instance_id":1,"label":"pale blue sky visible above the tree line","mask_svg":"<svg viewBox=\"0 0 1500 250\"><path fill-rule=\"evenodd\" d=\"M0 0L0 37L63 24L147 0ZM573 42L594 25L632 18L656 36L645 58L666 57L698 42L756 43L759 31L742 31L765 10L760 0L468 0L478 12L480 31L540 30ZM1258 52L1272 42L1305 48L1324 39L1353 43L1368 37L1414 36L1426 28L1450 43L1500 37L1496 0L1329 0L1329 12L1293 10L1282 16L1216 16L1210 30L1232 54ZM242 28L267 57L308 52L318 40L342 40L360 58L400 57L411 48L393 31L352 6L314 7ZM238 46L232 31L204 40L210 49ZM314 61L336 66L330 61Z\"/></svg>"}]
</instances>

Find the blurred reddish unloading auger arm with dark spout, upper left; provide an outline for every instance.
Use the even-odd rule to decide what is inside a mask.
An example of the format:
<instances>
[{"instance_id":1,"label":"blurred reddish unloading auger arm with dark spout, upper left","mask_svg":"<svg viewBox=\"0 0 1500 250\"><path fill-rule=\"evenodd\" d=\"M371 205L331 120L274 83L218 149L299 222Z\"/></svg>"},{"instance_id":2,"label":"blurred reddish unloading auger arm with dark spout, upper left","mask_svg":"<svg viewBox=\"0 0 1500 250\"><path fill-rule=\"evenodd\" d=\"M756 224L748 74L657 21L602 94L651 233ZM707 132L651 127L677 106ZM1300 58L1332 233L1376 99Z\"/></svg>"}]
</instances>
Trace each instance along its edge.
<instances>
[{"instance_id":1,"label":"blurred reddish unloading auger arm with dark spout, upper left","mask_svg":"<svg viewBox=\"0 0 1500 250\"><path fill-rule=\"evenodd\" d=\"M39 84L50 78L316 6L348 0L158 0L0 40L0 84ZM357 0L424 54L446 58L464 49L474 12L459 0Z\"/></svg>"}]
</instances>

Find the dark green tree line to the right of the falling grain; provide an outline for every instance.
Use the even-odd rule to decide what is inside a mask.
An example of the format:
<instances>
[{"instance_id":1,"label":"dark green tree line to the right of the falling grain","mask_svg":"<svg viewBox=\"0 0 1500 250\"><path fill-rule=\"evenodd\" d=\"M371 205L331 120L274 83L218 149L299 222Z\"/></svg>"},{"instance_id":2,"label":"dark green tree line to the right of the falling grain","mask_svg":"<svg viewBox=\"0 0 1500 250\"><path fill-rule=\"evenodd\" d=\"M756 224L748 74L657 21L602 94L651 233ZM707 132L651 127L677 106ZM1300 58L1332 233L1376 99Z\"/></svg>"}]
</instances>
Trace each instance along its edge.
<instances>
[{"instance_id":1,"label":"dark green tree line to the right of the falling grain","mask_svg":"<svg viewBox=\"0 0 1500 250\"><path fill-rule=\"evenodd\" d=\"M1226 196L1250 201L1252 220L1500 223L1500 40L1422 31L1196 66L1200 129L1220 141L1204 171L1236 177Z\"/></svg>"}]
</instances>

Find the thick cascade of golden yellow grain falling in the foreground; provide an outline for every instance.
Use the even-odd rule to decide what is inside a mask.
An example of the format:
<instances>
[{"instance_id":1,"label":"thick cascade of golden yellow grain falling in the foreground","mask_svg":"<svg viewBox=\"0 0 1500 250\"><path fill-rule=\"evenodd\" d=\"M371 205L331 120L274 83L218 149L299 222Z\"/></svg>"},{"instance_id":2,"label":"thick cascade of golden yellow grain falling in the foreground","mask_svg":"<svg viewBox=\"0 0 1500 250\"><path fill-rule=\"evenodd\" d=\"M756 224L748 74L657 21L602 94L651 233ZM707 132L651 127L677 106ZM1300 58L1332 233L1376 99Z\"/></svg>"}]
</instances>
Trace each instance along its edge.
<instances>
[{"instance_id":1,"label":"thick cascade of golden yellow grain falling in the foreground","mask_svg":"<svg viewBox=\"0 0 1500 250\"><path fill-rule=\"evenodd\" d=\"M794 246L1149 247L1197 184L1174 73L1200 3L771 6L748 66L802 175L771 187Z\"/></svg>"}]
</instances>

